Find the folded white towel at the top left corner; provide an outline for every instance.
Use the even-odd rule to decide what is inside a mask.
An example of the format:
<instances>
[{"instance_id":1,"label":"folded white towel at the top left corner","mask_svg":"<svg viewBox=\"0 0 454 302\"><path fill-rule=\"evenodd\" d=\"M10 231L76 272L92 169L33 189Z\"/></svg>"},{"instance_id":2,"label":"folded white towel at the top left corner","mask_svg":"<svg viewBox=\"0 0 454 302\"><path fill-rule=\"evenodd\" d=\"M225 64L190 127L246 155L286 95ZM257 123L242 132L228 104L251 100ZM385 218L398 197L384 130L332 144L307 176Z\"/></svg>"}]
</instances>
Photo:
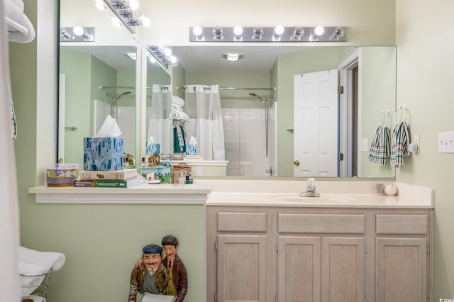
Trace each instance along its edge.
<instances>
[{"instance_id":1,"label":"folded white towel at the top left corner","mask_svg":"<svg viewBox=\"0 0 454 302\"><path fill-rule=\"evenodd\" d=\"M23 13L23 2L20 0L4 1L4 14L8 40L17 43L30 43L35 39L35 28Z\"/></svg>"}]
</instances>

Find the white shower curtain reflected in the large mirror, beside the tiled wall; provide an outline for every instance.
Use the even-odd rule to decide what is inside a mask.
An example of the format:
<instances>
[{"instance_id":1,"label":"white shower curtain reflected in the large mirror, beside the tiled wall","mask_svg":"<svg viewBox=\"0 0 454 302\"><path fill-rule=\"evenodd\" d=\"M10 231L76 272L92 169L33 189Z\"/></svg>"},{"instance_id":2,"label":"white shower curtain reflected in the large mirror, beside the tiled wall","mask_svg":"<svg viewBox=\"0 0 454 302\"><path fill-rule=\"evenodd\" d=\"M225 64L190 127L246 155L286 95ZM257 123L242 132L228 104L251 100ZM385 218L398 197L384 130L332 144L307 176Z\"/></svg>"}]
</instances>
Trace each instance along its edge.
<instances>
[{"instance_id":1,"label":"white shower curtain reflected in the large mirror, beside the tiled wall","mask_svg":"<svg viewBox=\"0 0 454 302\"><path fill-rule=\"evenodd\" d=\"M184 111L189 116L187 138L197 140L197 153L204 160L225 160L221 97L218 85L188 85Z\"/></svg>"}]
</instances>

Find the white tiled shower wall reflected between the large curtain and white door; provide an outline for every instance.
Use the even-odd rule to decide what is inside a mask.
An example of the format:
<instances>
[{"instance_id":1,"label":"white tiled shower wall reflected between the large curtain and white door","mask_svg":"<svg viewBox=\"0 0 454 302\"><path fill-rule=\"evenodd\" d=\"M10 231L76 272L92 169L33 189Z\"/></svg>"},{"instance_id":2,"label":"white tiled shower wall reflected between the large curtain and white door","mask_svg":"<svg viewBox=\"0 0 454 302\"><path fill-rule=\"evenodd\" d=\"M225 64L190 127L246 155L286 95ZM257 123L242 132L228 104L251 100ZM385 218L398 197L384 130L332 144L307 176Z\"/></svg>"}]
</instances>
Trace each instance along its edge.
<instances>
[{"instance_id":1,"label":"white tiled shower wall reflected between the large curtain and white door","mask_svg":"<svg viewBox=\"0 0 454 302\"><path fill-rule=\"evenodd\" d=\"M268 156L264 108L223 108L227 176L270 177L275 174L275 106L269 111Z\"/></svg>"}]
</instances>

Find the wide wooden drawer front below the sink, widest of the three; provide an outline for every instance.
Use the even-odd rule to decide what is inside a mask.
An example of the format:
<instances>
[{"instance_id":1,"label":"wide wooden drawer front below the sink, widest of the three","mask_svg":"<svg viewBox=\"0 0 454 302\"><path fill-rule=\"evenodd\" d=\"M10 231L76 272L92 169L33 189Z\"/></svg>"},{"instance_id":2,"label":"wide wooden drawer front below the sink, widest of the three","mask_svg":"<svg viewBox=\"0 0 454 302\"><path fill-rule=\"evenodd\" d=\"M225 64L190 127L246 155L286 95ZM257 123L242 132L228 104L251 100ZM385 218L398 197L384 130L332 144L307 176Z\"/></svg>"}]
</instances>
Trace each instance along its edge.
<instances>
[{"instance_id":1,"label":"wide wooden drawer front below the sink, widest of the three","mask_svg":"<svg viewBox=\"0 0 454 302\"><path fill-rule=\"evenodd\" d=\"M279 233L365 233L365 215L279 214Z\"/></svg>"}]
</instances>

